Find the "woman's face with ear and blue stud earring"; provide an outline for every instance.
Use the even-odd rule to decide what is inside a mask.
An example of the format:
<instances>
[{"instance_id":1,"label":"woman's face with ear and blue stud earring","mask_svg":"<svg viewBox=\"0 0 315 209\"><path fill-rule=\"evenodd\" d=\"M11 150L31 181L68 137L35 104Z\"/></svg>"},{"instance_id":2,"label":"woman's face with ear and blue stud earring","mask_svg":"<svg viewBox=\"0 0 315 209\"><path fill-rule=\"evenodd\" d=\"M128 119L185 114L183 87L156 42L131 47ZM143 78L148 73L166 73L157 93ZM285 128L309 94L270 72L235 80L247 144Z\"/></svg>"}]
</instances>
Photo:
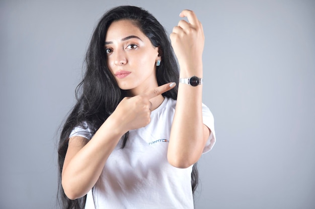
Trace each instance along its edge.
<instances>
[{"instance_id":1,"label":"woman's face with ear and blue stud earring","mask_svg":"<svg viewBox=\"0 0 315 209\"><path fill-rule=\"evenodd\" d=\"M113 22L105 40L108 68L119 88L130 90L130 95L144 93L157 86L155 76L159 48L130 20Z\"/></svg>"}]
</instances>

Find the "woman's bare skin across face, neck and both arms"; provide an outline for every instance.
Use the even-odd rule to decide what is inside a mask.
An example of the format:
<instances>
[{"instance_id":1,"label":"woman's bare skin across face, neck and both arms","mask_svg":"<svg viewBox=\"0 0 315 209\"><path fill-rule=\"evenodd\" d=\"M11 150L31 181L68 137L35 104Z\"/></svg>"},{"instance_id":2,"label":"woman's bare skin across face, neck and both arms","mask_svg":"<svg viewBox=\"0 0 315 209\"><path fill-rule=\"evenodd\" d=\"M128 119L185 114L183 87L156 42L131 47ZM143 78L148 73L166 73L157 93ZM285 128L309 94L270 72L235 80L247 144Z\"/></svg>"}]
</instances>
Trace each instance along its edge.
<instances>
[{"instance_id":1,"label":"woman's bare skin across face, neck and both arms","mask_svg":"<svg viewBox=\"0 0 315 209\"><path fill-rule=\"evenodd\" d=\"M180 17L187 17L188 22L181 20L170 37L180 77L202 77L202 25L192 11L184 10ZM61 183L70 199L84 196L94 186L121 136L147 125L151 111L164 100L161 94L175 86L175 83L157 85L155 62L161 59L159 48L153 47L130 22L112 23L105 40L108 67L113 75L129 72L124 78L115 77L119 87L128 90L129 97L118 104L90 141L80 136L69 139ZM179 84L168 148L169 163L175 167L186 168L197 162L209 137L210 130L202 122L201 102L202 85Z\"/></svg>"}]
</instances>

